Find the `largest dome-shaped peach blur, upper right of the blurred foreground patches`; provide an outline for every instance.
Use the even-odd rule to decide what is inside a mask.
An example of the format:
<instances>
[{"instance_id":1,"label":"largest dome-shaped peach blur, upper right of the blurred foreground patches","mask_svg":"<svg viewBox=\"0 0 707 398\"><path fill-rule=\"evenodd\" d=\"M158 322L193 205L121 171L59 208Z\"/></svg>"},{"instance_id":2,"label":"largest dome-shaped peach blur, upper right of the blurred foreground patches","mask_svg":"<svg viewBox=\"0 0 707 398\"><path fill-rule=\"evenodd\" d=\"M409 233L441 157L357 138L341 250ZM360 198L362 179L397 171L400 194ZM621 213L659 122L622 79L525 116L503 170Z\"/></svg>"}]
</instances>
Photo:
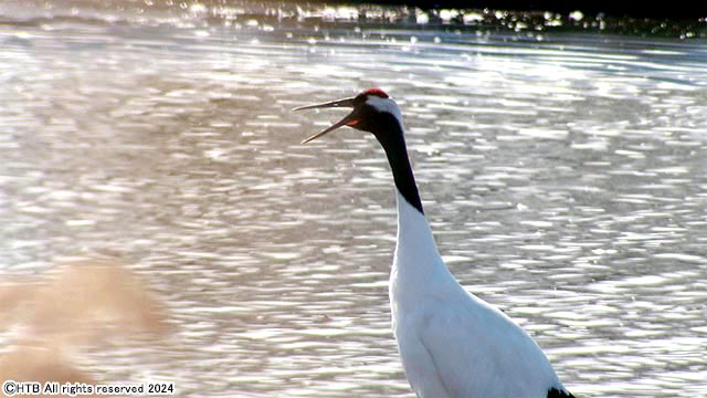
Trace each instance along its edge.
<instances>
[{"instance_id":1,"label":"largest dome-shaped peach blur, upper right of the blurred foreground patches","mask_svg":"<svg viewBox=\"0 0 707 398\"><path fill-rule=\"evenodd\" d=\"M163 304L134 273L110 262L60 266L34 294L30 314L31 333L70 344L168 331Z\"/></svg>"}]
</instances>

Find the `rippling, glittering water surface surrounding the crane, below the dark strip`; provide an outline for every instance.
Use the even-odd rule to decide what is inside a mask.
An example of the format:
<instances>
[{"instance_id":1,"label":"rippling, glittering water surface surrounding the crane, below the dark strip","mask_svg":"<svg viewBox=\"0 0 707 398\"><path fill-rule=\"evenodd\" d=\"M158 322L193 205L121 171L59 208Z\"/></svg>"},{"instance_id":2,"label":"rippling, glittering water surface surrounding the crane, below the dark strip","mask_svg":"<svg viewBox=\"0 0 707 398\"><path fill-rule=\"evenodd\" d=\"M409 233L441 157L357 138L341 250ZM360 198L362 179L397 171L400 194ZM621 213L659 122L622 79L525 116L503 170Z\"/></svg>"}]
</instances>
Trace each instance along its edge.
<instances>
[{"instance_id":1,"label":"rippling, glittering water surface surrounding the crane, below the dark strip","mask_svg":"<svg viewBox=\"0 0 707 398\"><path fill-rule=\"evenodd\" d=\"M382 151L291 112L380 86L449 266L570 390L707 396L705 40L0 9L0 273L116 255L177 326L96 378L413 397Z\"/></svg>"}]
</instances>

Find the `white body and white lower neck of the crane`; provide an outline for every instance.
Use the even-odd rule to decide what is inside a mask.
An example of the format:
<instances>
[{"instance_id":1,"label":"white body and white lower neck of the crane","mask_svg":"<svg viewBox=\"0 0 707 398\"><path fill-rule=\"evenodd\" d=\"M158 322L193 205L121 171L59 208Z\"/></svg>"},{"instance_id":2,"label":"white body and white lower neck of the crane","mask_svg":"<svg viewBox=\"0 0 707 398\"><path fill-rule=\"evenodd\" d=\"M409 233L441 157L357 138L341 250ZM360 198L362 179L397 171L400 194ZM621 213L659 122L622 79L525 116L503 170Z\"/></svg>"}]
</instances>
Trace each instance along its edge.
<instances>
[{"instance_id":1,"label":"white body and white lower neck of the crane","mask_svg":"<svg viewBox=\"0 0 707 398\"><path fill-rule=\"evenodd\" d=\"M450 273L425 217L398 192L393 333L421 398L545 398L562 389L538 345Z\"/></svg>"}]
</instances>

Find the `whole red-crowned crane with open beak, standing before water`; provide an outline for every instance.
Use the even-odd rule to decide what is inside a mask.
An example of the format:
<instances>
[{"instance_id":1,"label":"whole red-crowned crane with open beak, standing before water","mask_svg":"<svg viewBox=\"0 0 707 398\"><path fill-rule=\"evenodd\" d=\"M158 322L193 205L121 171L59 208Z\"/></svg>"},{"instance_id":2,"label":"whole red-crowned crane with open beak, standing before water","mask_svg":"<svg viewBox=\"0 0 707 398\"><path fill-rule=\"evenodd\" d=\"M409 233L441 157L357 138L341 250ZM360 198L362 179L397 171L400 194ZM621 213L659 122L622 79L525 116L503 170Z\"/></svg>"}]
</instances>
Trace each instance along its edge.
<instances>
[{"instance_id":1,"label":"whole red-crowned crane with open beak, standing before water","mask_svg":"<svg viewBox=\"0 0 707 398\"><path fill-rule=\"evenodd\" d=\"M421 398L569 398L547 357L507 315L460 285L442 261L408 158L402 114L380 88L294 111L351 113L342 126L372 133L395 182L398 240L390 273L392 326L410 385Z\"/></svg>"}]
</instances>

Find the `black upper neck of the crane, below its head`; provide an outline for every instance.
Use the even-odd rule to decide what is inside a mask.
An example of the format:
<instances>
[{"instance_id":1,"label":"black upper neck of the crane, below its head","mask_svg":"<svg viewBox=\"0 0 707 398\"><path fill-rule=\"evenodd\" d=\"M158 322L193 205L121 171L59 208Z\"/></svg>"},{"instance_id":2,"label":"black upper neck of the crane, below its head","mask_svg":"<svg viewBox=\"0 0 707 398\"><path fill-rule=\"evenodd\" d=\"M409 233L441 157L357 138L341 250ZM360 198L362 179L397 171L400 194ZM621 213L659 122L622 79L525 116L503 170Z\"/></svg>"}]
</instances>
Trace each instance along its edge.
<instances>
[{"instance_id":1,"label":"black upper neck of the crane, below its head","mask_svg":"<svg viewBox=\"0 0 707 398\"><path fill-rule=\"evenodd\" d=\"M398 119L391 115L386 118L386 122L379 126L379 128L381 133L373 132L373 134L380 142L383 150L386 150L398 191L410 205L424 214L420 192L415 184L415 176L410 166L402 126L400 126Z\"/></svg>"}]
</instances>

